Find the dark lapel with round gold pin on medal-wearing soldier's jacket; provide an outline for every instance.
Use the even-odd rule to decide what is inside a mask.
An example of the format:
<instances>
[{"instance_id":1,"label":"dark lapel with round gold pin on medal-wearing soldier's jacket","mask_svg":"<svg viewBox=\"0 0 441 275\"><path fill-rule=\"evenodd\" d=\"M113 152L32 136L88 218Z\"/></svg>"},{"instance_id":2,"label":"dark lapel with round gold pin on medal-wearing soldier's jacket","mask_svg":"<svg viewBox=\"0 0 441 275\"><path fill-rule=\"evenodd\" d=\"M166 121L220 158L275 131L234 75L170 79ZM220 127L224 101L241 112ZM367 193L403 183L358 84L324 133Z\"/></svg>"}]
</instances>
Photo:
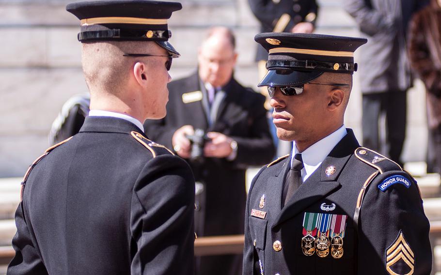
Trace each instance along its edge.
<instances>
[{"instance_id":1,"label":"dark lapel with round gold pin on medal-wearing soldier's jacket","mask_svg":"<svg viewBox=\"0 0 441 275\"><path fill-rule=\"evenodd\" d=\"M346 166L354 150L359 146L352 130L347 129L347 135L340 140L331 153L323 160L322 164L300 185L296 193L289 199L275 219L272 228L299 214L317 200L337 190L341 186L337 181L338 176Z\"/></svg>"}]
</instances>

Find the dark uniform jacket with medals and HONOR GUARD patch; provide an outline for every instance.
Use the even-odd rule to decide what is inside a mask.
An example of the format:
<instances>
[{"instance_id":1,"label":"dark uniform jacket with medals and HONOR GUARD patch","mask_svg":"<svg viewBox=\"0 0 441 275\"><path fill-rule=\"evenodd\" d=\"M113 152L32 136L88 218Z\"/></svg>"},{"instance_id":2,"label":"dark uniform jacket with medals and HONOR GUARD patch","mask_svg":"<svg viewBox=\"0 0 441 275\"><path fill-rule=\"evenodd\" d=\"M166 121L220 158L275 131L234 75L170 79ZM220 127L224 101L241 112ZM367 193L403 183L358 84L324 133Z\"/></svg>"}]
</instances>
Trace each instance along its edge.
<instances>
[{"instance_id":1,"label":"dark uniform jacket with medals and HONOR GUARD patch","mask_svg":"<svg viewBox=\"0 0 441 275\"><path fill-rule=\"evenodd\" d=\"M389 274L386 262L397 274L407 274L410 267L400 259L406 253L406 259L412 258L408 261L414 263L414 275L430 274L429 223L416 182L394 162L358 147L348 129L347 135L284 207L284 175L291 157L261 169L253 179L247 199L244 275L260 274L259 260L264 274ZM327 170L331 166L335 168L331 169L332 174ZM384 192L379 190L378 186L394 175L409 179L410 186L397 183ZM265 205L260 208L263 194ZM323 204L331 208L323 208ZM266 212L265 218L252 215L253 209ZM334 259L331 253L325 258L316 253L303 255L305 212L347 215L342 258ZM400 233L410 247L406 252L400 250L403 243L393 246ZM273 248L275 241L281 242L280 251Z\"/></svg>"}]
</instances>

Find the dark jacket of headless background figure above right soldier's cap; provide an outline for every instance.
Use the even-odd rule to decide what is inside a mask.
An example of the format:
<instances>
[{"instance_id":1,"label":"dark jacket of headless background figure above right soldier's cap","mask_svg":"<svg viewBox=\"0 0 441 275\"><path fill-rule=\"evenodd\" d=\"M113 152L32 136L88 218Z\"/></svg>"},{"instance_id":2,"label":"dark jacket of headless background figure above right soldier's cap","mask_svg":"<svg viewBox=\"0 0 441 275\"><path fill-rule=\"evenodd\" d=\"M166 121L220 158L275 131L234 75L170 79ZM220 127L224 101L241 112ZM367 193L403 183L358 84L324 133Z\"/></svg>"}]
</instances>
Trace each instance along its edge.
<instances>
[{"instance_id":1,"label":"dark jacket of headless background figure above right soldier's cap","mask_svg":"<svg viewBox=\"0 0 441 275\"><path fill-rule=\"evenodd\" d=\"M318 5L315 0L248 0L250 8L261 27L260 32L272 32L283 14L290 16L290 19L283 30L278 32L290 32L300 22L311 22L315 25L318 12ZM267 60L268 52L264 47L258 45L256 61Z\"/></svg>"}]
</instances>

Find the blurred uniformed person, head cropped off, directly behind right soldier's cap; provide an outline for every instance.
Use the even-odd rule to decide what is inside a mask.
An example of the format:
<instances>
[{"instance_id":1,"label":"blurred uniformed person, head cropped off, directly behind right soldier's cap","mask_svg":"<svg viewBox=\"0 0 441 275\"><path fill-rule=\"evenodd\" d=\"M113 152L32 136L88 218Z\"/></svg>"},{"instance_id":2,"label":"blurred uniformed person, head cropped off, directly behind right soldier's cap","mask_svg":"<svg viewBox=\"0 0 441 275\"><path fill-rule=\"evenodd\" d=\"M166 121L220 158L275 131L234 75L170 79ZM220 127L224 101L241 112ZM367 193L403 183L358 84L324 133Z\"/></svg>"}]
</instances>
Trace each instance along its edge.
<instances>
[{"instance_id":1,"label":"blurred uniformed person, head cropped off, directly behind right soldier's cap","mask_svg":"<svg viewBox=\"0 0 441 275\"><path fill-rule=\"evenodd\" d=\"M251 11L260 22L260 32L293 32L312 33L315 29L318 5L315 0L248 0ZM257 45L256 59L259 78L267 74L266 62L268 52L264 47ZM265 88L265 87L264 87ZM276 128L272 124L272 108L266 89L260 92L266 96L265 108L268 110L268 123L274 145L277 147L276 156L291 151L291 143L279 140Z\"/></svg>"}]
</instances>

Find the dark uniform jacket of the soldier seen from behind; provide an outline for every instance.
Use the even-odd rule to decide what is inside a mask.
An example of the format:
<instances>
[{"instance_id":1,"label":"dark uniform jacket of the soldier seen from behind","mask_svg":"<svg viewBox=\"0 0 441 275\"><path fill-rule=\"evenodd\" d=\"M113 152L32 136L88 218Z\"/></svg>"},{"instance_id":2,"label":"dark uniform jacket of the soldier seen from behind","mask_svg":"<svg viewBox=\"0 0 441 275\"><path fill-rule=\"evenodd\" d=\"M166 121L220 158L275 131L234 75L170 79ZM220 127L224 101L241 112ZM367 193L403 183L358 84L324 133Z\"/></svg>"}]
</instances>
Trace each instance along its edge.
<instances>
[{"instance_id":1,"label":"dark uniform jacket of the soldier seen from behind","mask_svg":"<svg viewBox=\"0 0 441 275\"><path fill-rule=\"evenodd\" d=\"M31 170L8 275L193 274L190 168L131 131L87 117Z\"/></svg>"}]
</instances>

